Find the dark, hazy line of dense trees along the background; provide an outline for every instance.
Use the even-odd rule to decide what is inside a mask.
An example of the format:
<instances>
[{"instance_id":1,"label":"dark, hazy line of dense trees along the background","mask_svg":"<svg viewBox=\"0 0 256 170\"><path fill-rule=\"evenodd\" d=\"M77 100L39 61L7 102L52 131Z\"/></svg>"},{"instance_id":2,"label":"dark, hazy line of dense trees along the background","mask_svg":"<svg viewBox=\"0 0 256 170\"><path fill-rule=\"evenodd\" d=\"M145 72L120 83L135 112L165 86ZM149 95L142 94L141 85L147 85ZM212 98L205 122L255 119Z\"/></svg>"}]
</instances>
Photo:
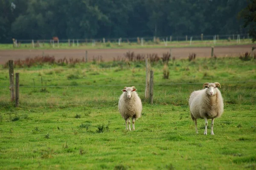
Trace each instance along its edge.
<instances>
[{"instance_id":1,"label":"dark, hazy line of dense trees along the background","mask_svg":"<svg viewBox=\"0 0 256 170\"><path fill-rule=\"evenodd\" d=\"M0 0L0 43L16 39L245 34L247 0Z\"/></svg>"}]
</instances>

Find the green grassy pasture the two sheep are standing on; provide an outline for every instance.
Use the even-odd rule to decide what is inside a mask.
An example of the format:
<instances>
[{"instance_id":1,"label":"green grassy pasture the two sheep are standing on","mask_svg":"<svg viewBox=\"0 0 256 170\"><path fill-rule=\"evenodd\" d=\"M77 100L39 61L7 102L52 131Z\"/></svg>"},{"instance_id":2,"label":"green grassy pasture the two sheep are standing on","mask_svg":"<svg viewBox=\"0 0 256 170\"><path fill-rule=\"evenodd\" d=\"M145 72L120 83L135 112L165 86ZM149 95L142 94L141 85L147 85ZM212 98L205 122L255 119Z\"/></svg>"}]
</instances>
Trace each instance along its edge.
<instances>
[{"instance_id":1,"label":"green grassy pasture the two sheep are standing on","mask_svg":"<svg viewBox=\"0 0 256 170\"><path fill-rule=\"evenodd\" d=\"M158 61L151 69L152 105L144 97L144 61L16 66L15 107L1 66L0 169L256 169L256 60L183 59L167 68ZM215 119L215 135L210 126L204 135L203 119L196 135L189 95L216 81L224 113ZM136 86L143 101L135 131L125 130L117 108L124 86Z\"/></svg>"}]
</instances>

